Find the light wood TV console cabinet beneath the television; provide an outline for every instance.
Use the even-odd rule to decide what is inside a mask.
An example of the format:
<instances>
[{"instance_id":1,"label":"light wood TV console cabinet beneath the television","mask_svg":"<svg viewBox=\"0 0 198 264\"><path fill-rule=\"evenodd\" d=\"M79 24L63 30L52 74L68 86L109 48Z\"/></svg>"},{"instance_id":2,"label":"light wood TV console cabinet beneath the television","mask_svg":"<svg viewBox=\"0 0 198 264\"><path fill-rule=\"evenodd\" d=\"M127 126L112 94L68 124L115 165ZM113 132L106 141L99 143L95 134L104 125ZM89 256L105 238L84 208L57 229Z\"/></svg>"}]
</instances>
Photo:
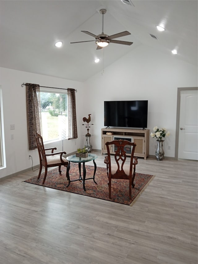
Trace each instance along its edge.
<instances>
[{"instance_id":1,"label":"light wood TV console cabinet beneath the television","mask_svg":"<svg viewBox=\"0 0 198 264\"><path fill-rule=\"evenodd\" d=\"M107 135L106 133L112 133ZM130 129L130 128L102 128L101 129L101 154L106 154L105 142L114 139L126 139L136 143L134 156L146 159L149 156L149 129ZM114 154L113 146L110 146L110 153ZM131 154L127 154L131 156Z\"/></svg>"}]
</instances>

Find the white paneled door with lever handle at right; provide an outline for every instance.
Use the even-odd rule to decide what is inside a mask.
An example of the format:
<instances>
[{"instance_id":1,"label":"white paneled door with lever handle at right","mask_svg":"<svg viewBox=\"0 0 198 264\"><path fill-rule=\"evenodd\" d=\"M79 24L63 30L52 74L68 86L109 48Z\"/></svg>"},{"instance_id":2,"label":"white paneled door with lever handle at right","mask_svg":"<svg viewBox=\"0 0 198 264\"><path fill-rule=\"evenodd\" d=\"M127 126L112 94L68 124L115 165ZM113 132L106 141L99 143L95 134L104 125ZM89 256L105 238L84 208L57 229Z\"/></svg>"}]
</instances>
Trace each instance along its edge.
<instances>
[{"instance_id":1,"label":"white paneled door with lever handle at right","mask_svg":"<svg viewBox=\"0 0 198 264\"><path fill-rule=\"evenodd\" d=\"M180 92L178 158L198 160L198 93Z\"/></svg>"}]
</instances>

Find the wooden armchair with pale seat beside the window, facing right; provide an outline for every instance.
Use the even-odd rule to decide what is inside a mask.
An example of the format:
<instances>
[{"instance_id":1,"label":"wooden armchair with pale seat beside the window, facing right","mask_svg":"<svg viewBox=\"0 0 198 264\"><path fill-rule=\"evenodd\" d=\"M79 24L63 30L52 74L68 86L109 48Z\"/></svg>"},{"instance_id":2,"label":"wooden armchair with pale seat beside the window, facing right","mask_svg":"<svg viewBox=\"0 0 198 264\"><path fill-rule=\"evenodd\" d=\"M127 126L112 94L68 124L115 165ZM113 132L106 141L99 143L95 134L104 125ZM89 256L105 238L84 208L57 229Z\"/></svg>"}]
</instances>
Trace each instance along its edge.
<instances>
[{"instance_id":1,"label":"wooden armchair with pale seat beside the window, facing right","mask_svg":"<svg viewBox=\"0 0 198 264\"><path fill-rule=\"evenodd\" d=\"M39 159L40 159L40 169L39 169L38 179L41 176L41 171L42 171L42 166L43 166L43 167L45 167L45 175L44 175L42 184L44 184L46 176L47 176L47 168L58 166L58 171L61 174L61 166L63 165L65 167L67 167L68 161L66 158L62 157L63 154L66 154L65 151L54 153L54 150L56 148L45 149L44 145L43 145L42 136L40 136L38 133L35 133L34 135L36 138L38 154L39 154ZM45 150L51 150L51 153L46 154Z\"/></svg>"}]
</instances>

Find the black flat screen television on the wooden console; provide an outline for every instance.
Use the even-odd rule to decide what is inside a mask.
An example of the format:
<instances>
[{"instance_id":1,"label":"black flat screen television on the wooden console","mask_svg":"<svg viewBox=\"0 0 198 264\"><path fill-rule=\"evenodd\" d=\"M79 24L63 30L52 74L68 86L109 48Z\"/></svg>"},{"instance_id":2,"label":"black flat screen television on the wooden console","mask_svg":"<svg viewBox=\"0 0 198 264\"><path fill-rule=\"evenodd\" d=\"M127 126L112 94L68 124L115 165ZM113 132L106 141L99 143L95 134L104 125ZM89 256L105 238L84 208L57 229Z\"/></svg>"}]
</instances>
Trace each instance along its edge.
<instances>
[{"instance_id":1,"label":"black flat screen television on the wooden console","mask_svg":"<svg viewBox=\"0 0 198 264\"><path fill-rule=\"evenodd\" d=\"M106 127L147 128L148 100L105 101Z\"/></svg>"}]
</instances>

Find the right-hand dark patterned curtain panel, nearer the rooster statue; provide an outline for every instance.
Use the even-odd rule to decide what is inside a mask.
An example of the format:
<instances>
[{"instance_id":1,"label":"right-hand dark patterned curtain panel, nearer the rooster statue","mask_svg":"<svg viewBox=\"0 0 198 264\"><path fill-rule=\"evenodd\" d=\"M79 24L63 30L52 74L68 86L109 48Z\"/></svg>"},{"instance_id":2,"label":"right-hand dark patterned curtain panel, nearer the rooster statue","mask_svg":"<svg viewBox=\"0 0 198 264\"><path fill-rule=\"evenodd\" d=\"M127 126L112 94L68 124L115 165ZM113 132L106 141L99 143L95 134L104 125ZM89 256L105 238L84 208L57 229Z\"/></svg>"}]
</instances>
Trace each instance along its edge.
<instances>
[{"instance_id":1,"label":"right-hand dark patterned curtain panel, nearer the rooster statue","mask_svg":"<svg viewBox=\"0 0 198 264\"><path fill-rule=\"evenodd\" d=\"M77 122L76 122L76 105L75 105L75 89L67 88L68 96L68 139L74 139L78 137L77 134Z\"/></svg>"}]
</instances>

